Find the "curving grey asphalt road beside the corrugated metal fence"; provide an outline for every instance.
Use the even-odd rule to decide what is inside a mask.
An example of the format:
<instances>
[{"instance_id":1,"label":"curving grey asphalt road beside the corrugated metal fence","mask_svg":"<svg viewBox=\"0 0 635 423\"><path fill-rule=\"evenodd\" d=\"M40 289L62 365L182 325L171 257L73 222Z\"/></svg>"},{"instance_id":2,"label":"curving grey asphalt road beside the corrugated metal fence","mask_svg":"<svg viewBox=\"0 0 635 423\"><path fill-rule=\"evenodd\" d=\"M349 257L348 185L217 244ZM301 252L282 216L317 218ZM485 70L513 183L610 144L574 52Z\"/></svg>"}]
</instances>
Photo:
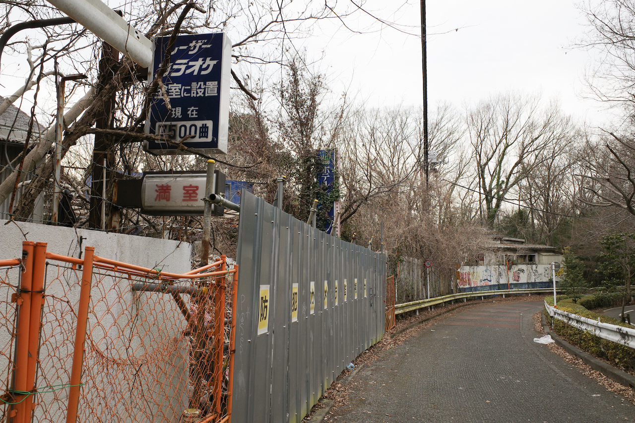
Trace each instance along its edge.
<instances>
[{"instance_id":1,"label":"curving grey asphalt road beside the corrugated metal fence","mask_svg":"<svg viewBox=\"0 0 635 423\"><path fill-rule=\"evenodd\" d=\"M382 351L335 422L635 421L635 406L533 342L542 302L486 303Z\"/></svg>"}]
</instances>

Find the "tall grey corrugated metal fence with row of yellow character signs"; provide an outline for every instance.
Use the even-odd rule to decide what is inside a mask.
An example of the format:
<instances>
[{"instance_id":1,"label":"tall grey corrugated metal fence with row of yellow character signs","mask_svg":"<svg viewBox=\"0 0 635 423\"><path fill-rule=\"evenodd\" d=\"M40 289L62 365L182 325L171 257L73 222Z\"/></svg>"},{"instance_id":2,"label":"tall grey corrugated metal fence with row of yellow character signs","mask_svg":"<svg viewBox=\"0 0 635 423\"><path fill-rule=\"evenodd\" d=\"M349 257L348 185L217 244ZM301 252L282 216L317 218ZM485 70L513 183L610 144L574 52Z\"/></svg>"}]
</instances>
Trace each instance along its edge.
<instances>
[{"instance_id":1,"label":"tall grey corrugated metal fence with row of yellow character signs","mask_svg":"<svg viewBox=\"0 0 635 423\"><path fill-rule=\"evenodd\" d=\"M232 422L300 422L383 336L386 259L241 195ZM265 286L268 320L258 335Z\"/></svg>"}]
</instances>

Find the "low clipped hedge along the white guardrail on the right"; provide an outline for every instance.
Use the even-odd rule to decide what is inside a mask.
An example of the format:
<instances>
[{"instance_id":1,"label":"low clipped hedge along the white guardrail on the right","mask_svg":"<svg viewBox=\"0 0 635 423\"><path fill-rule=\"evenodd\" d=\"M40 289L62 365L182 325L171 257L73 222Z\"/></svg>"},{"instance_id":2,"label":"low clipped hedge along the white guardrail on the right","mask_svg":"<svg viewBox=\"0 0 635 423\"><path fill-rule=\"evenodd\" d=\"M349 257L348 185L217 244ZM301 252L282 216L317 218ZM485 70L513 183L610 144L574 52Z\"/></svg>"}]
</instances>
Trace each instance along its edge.
<instances>
[{"instance_id":1,"label":"low clipped hedge along the white guardrail on the right","mask_svg":"<svg viewBox=\"0 0 635 423\"><path fill-rule=\"evenodd\" d=\"M587 300L587 297L593 296L594 295L586 295L582 298L582 300ZM553 297L547 297L545 300L547 301L547 304L553 305ZM562 301L557 300L558 309L589 319L599 319L599 321L603 323L610 323L611 325L624 326L627 328L633 327L627 323L622 323L617 319L613 319L612 317L589 311L581 305L583 302L582 300L578 300L578 304L573 304L571 299L565 299ZM584 332L583 330L567 325L561 320L553 319L549 316L546 309L545 316L547 316L554 332L558 333L559 336L566 339L570 344L573 344L598 358L605 359L615 367L621 368L622 370L630 373L635 373L635 349L625 347L622 344L617 344L617 342L601 339L592 333Z\"/></svg>"}]
</instances>

